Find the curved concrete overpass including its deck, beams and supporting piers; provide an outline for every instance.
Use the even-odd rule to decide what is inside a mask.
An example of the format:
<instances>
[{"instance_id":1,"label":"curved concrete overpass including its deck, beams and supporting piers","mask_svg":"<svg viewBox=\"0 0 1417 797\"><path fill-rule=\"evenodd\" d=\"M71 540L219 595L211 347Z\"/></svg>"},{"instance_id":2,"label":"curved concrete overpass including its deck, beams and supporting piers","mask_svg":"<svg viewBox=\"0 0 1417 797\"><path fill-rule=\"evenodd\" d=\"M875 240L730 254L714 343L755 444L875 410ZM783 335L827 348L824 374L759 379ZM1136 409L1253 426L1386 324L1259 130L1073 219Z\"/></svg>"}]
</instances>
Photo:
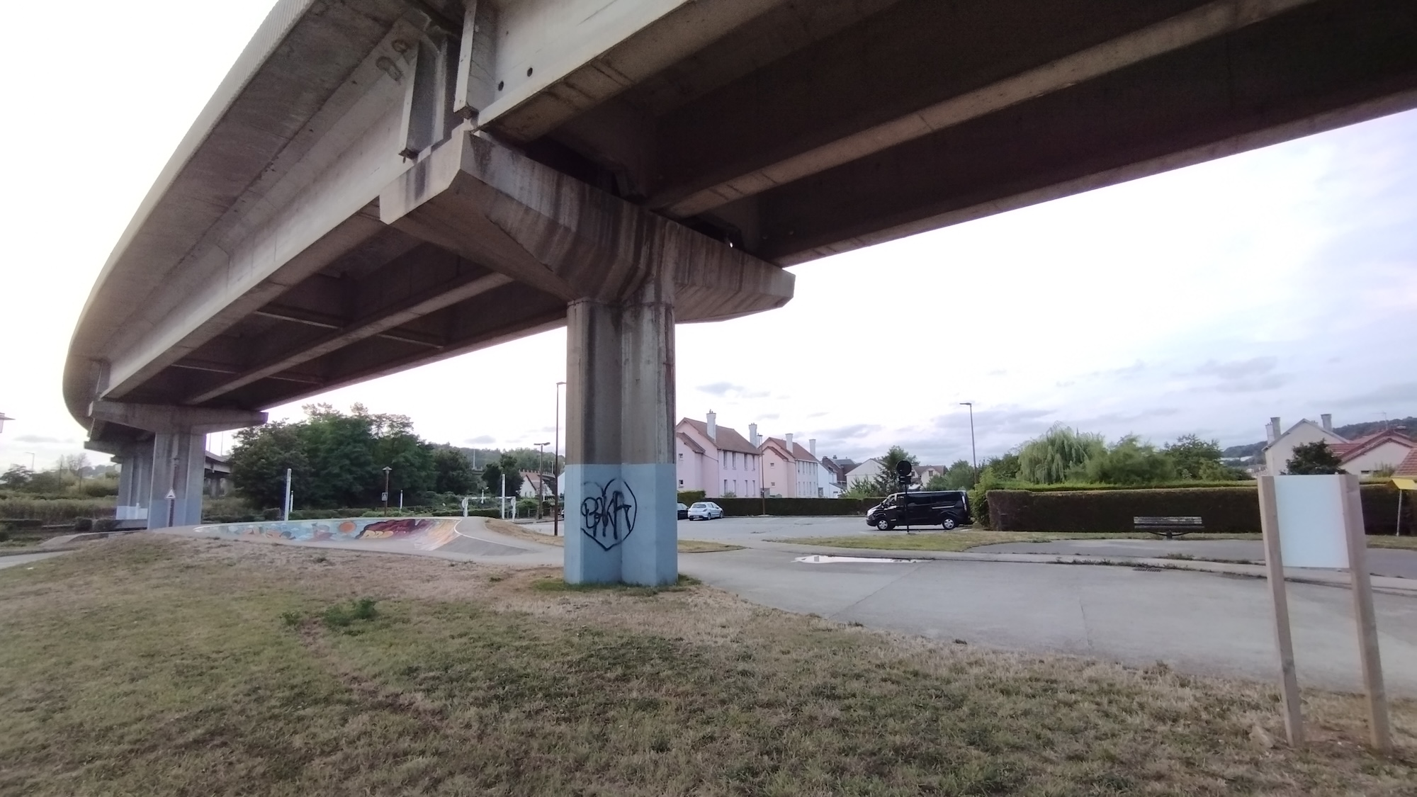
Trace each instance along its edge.
<instances>
[{"instance_id":1,"label":"curved concrete overpass including its deck, beams and supporting piers","mask_svg":"<svg viewBox=\"0 0 1417 797\"><path fill-rule=\"evenodd\" d=\"M125 505L194 522L205 431L568 325L568 577L666 580L676 322L1413 106L1410 0L281 0L105 264L64 394Z\"/></svg>"}]
</instances>

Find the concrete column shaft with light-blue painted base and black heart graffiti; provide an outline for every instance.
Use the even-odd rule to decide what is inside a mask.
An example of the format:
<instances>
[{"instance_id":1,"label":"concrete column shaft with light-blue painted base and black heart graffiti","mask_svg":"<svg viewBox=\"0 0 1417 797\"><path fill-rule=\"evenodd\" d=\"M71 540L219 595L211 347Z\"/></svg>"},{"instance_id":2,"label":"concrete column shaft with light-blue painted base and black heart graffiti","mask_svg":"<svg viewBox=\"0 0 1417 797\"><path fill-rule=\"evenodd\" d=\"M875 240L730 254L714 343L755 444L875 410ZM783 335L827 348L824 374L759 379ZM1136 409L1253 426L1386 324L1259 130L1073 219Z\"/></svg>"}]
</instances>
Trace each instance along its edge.
<instances>
[{"instance_id":1,"label":"concrete column shaft with light-blue painted base and black heart graffiti","mask_svg":"<svg viewBox=\"0 0 1417 797\"><path fill-rule=\"evenodd\" d=\"M565 580L672 584L673 282L657 268L619 303L567 313Z\"/></svg>"}]
</instances>

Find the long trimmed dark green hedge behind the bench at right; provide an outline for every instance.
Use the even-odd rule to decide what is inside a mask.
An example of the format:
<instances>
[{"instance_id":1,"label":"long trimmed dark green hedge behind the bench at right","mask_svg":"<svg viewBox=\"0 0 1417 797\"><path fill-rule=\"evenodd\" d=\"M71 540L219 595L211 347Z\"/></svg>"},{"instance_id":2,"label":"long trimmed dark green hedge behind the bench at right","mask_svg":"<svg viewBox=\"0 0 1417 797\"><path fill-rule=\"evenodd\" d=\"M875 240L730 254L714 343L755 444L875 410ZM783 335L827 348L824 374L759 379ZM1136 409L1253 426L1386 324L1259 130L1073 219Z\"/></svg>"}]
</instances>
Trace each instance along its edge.
<instances>
[{"instance_id":1,"label":"long trimmed dark green hedge behind the bench at right","mask_svg":"<svg viewBox=\"0 0 1417 797\"><path fill-rule=\"evenodd\" d=\"M1367 533L1393 533L1397 489L1363 485L1360 495ZM1132 518L1172 515L1199 515L1207 532L1258 532L1258 489L989 491L989 528L1002 532L1131 532ZM1410 502L1403 515L1403 529L1413 529Z\"/></svg>"}]
</instances>

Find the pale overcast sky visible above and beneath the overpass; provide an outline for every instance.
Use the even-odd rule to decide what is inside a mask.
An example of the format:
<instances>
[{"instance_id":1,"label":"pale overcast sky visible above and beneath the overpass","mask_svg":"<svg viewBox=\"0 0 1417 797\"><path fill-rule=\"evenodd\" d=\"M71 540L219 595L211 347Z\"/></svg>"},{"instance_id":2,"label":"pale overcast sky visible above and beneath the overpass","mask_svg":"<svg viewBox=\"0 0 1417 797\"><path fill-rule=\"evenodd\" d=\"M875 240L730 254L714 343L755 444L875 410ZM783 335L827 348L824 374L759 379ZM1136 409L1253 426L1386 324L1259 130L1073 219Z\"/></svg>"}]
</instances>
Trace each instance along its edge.
<instances>
[{"instance_id":1,"label":"pale overcast sky visible above and beneath the overpass","mask_svg":"<svg viewBox=\"0 0 1417 797\"><path fill-rule=\"evenodd\" d=\"M64 14L72 57L11 37L0 411L17 420L0 467L81 450L60 393L79 309L268 7L78 1ZM786 308L677 329L680 416L711 408L829 455L903 444L931 462L969 455L959 401L975 401L981 458L1060 421L1230 445L1260 440L1270 416L1413 416L1417 113L792 271ZM408 414L435 441L529 445L551 440L564 373L558 330L323 400Z\"/></svg>"}]
</instances>

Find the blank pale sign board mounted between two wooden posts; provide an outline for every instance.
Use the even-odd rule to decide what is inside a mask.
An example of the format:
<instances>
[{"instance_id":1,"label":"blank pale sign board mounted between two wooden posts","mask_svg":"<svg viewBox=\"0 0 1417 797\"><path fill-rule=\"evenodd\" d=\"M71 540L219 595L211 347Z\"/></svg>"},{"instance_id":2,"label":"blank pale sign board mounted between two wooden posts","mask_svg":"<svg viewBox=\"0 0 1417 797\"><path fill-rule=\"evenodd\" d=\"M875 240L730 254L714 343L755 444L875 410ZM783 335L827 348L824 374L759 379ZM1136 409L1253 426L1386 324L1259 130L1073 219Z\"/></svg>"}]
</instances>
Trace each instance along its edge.
<instances>
[{"instance_id":1,"label":"blank pale sign board mounted between two wooden posts","mask_svg":"<svg viewBox=\"0 0 1417 797\"><path fill-rule=\"evenodd\" d=\"M1348 569L1343 476L1274 476L1285 567Z\"/></svg>"}]
</instances>

